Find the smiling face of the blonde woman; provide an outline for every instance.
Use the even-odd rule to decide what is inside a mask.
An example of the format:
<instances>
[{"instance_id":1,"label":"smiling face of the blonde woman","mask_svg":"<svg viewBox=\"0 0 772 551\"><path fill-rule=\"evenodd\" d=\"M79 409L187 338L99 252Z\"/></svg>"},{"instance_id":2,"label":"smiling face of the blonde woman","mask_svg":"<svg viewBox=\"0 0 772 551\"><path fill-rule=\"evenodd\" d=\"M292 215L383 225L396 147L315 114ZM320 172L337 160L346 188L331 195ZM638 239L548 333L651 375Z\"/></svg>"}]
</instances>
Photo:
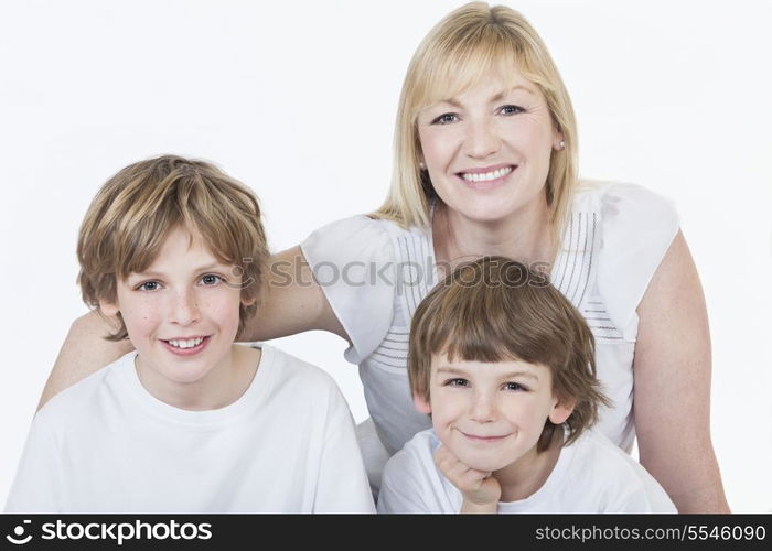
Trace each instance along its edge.
<instances>
[{"instance_id":1,"label":"smiling face of the blonde woman","mask_svg":"<svg viewBox=\"0 0 772 551\"><path fill-rule=\"evenodd\" d=\"M512 88L492 76L418 116L435 191L449 208L478 222L544 208L550 153L560 147L542 90L513 71Z\"/></svg>"}]
</instances>

